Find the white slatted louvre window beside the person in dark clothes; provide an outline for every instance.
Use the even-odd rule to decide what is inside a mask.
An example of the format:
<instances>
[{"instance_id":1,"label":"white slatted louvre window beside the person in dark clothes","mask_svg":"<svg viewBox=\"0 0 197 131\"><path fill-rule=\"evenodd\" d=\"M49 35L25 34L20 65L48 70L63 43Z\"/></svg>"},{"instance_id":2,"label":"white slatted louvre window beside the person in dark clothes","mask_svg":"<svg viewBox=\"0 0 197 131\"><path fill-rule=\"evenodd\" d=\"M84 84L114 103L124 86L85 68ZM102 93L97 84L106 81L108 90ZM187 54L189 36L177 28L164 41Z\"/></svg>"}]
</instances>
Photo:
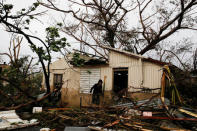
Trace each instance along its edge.
<instances>
[{"instance_id":1,"label":"white slatted louvre window beside the person in dark clothes","mask_svg":"<svg viewBox=\"0 0 197 131\"><path fill-rule=\"evenodd\" d=\"M80 70L80 93L89 93L91 87L100 79L100 68Z\"/></svg>"}]
</instances>

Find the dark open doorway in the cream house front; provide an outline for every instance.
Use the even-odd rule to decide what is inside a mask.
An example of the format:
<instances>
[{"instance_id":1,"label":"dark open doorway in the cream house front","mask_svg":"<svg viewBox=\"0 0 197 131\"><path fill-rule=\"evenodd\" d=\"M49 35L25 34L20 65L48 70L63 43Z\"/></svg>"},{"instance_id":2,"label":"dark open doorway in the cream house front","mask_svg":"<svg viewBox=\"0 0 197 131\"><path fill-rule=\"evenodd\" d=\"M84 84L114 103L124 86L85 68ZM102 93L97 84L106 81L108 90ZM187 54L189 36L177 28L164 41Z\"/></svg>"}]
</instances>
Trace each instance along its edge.
<instances>
[{"instance_id":1,"label":"dark open doorway in the cream house front","mask_svg":"<svg viewBox=\"0 0 197 131\"><path fill-rule=\"evenodd\" d=\"M123 95L128 90L128 68L114 68L113 77L113 91Z\"/></svg>"}]
</instances>

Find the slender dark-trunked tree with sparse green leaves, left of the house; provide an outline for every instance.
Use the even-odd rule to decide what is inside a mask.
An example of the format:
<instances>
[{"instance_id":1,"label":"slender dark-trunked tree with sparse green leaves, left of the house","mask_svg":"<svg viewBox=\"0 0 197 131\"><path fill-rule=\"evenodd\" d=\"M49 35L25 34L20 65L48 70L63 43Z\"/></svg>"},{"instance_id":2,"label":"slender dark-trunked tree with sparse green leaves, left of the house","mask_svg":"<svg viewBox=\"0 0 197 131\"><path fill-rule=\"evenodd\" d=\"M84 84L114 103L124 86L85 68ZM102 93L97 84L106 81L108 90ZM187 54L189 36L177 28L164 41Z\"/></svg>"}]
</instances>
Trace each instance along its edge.
<instances>
[{"instance_id":1,"label":"slender dark-trunked tree with sparse green leaves, left of the house","mask_svg":"<svg viewBox=\"0 0 197 131\"><path fill-rule=\"evenodd\" d=\"M35 13L39 5L39 3L34 3L28 9L23 8L17 11L17 13L14 13L14 6L5 3L3 0L0 2L0 24L3 25L8 32L24 36L32 51L37 54L43 69L47 94L49 94L51 53L58 52L62 48L69 46L69 44L66 42L66 38L61 38L59 35L60 24L46 29L46 41L28 33L30 22L36 20L38 16L45 13Z\"/></svg>"}]
</instances>

